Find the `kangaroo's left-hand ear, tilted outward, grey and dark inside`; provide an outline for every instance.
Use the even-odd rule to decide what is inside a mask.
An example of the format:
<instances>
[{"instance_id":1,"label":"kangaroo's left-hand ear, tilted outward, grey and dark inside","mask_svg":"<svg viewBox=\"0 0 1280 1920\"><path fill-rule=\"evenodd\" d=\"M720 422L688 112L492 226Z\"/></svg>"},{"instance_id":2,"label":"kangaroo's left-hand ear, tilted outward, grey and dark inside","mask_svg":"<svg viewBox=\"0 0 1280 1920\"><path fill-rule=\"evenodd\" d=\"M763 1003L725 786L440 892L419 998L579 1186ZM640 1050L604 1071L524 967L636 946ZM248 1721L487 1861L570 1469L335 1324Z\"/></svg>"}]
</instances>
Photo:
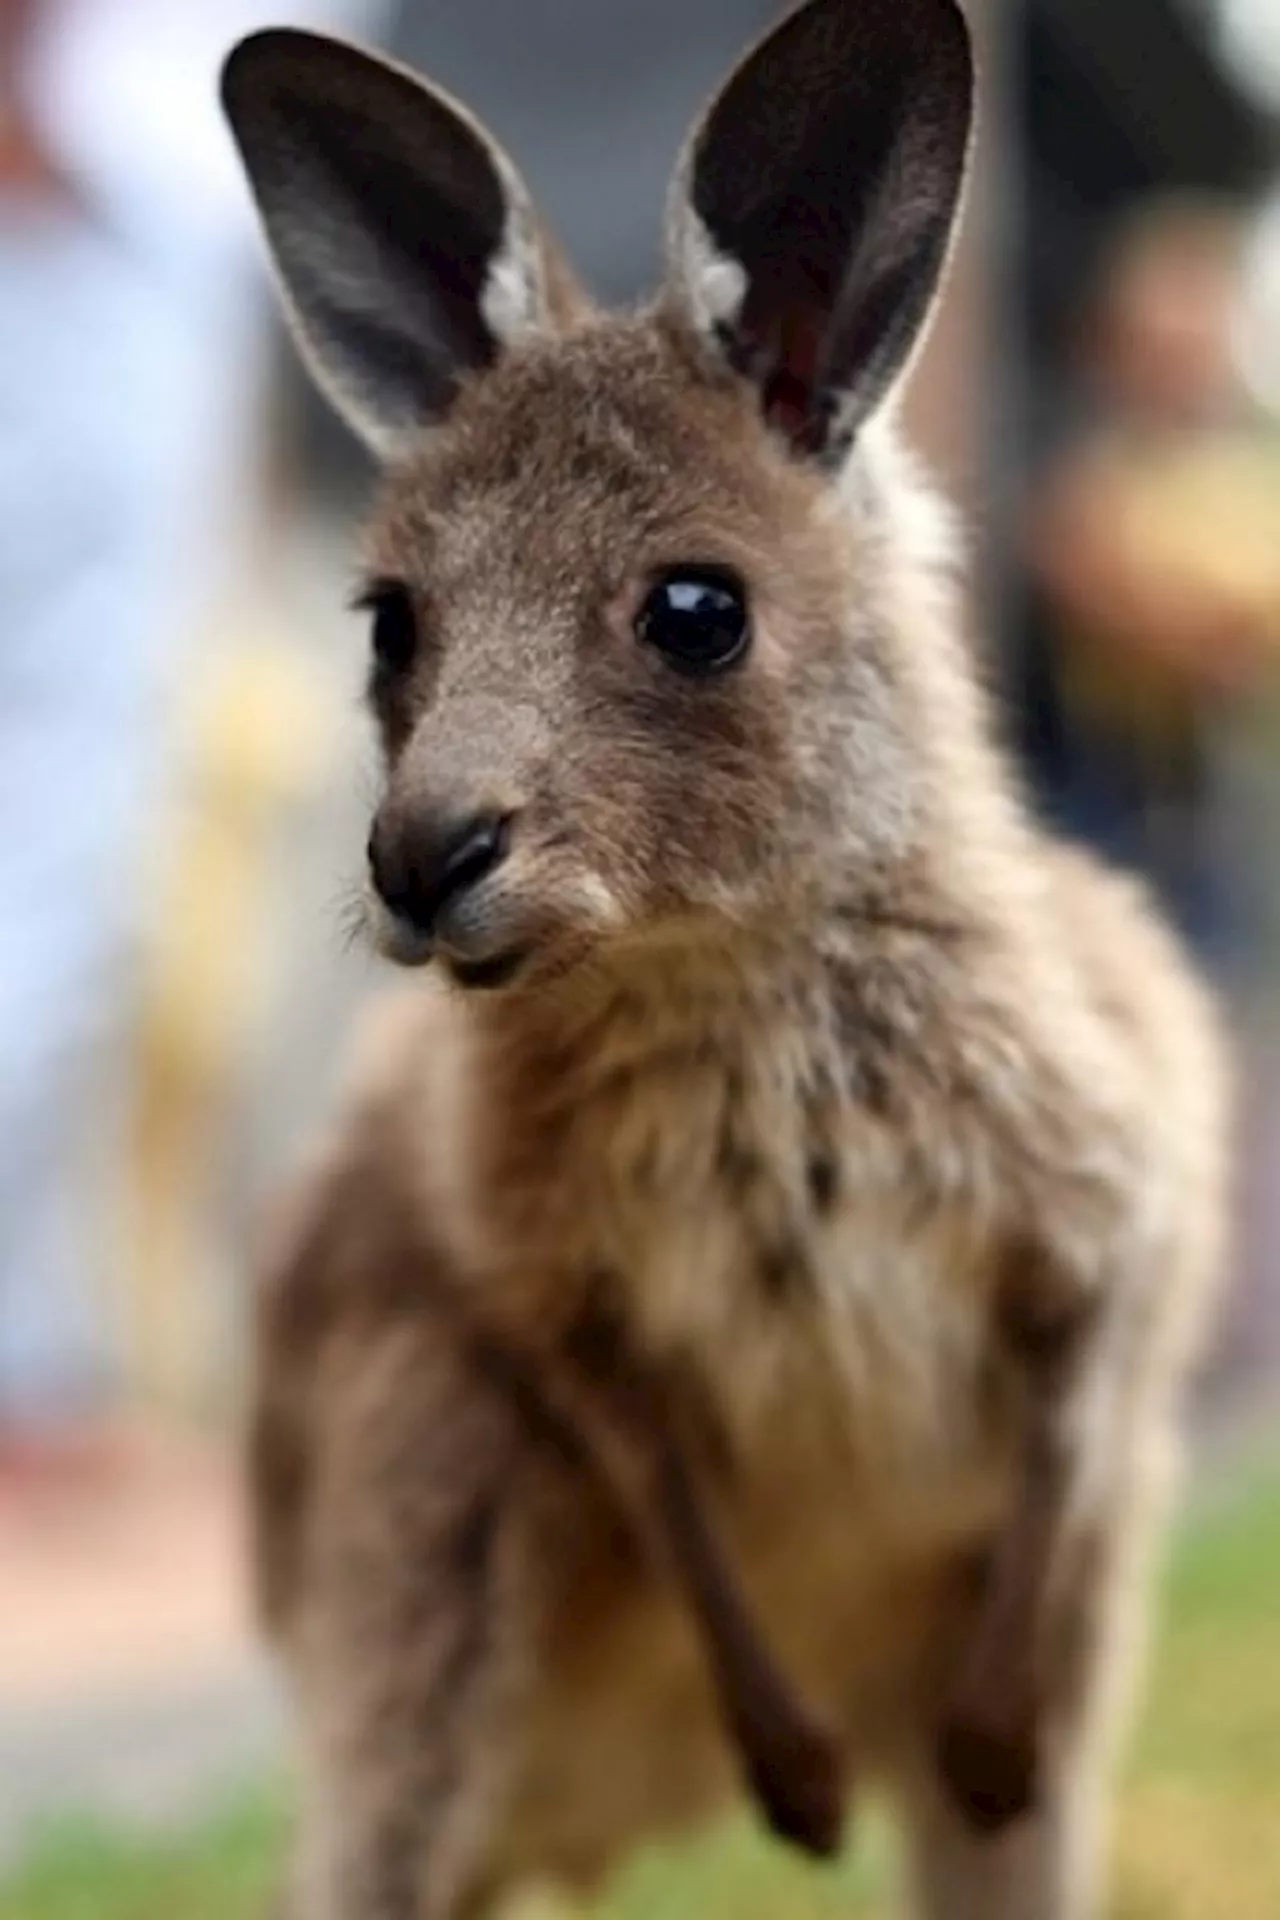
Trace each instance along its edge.
<instances>
[{"instance_id":1,"label":"kangaroo's left-hand ear, tilted outward, grey and dark inside","mask_svg":"<svg viewBox=\"0 0 1280 1920\"><path fill-rule=\"evenodd\" d=\"M376 453L572 305L507 156L401 67L273 29L228 56L223 106L301 351Z\"/></svg>"}]
</instances>

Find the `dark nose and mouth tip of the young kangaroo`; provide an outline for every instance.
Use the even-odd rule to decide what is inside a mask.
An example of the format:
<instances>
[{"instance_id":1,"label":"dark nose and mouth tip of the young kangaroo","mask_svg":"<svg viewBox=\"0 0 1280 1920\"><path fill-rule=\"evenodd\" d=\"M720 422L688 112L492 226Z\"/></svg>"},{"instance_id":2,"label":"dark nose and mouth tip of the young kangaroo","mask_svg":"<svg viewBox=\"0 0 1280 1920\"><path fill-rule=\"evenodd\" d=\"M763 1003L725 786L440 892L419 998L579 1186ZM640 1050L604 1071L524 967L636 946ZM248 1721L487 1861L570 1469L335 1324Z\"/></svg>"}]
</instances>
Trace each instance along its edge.
<instances>
[{"instance_id":1,"label":"dark nose and mouth tip of the young kangaroo","mask_svg":"<svg viewBox=\"0 0 1280 1920\"><path fill-rule=\"evenodd\" d=\"M415 966L443 952L459 966L493 958L476 891L507 858L514 814L432 806L380 814L368 835L368 877L386 908L388 958Z\"/></svg>"}]
</instances>

